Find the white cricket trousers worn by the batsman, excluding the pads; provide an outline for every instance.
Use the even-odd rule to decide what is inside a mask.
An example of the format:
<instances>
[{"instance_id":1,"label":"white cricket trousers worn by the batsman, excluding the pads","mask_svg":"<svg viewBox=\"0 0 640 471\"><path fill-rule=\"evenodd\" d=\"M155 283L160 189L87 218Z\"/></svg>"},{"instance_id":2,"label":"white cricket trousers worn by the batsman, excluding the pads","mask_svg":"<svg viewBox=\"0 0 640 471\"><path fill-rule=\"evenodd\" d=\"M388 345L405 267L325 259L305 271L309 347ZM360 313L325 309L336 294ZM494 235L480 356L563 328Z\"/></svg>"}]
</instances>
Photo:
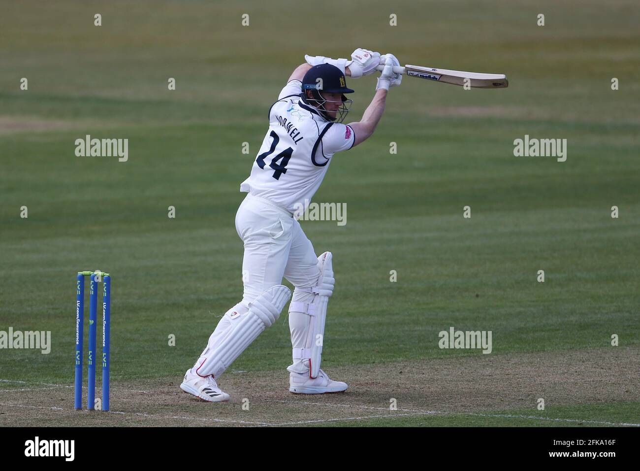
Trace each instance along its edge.
<instances>
[{"instance_id":1,"label":"white cricket trousers worn by the batsman, excluding the pads","mask_svg":"<svg viewBox=\"0 0 640 471\"><path fill-rule=\"evenodd\" d=\"M316 286L320 277L316 252L300 227L300 222L294 219L289 211L268 199L252 194L246 195L236 213L236 231L244 242L243 299L218 322L194 369L202 365L207 352L215 349L228 336L234 335L228 318L234 310L246 312L249 302L272 286L281 285L283 277L295 288ZM313 300L313 292L298 289L294 289L291 298L291 301L300 302ZM305 347L309 324L310 318L307 314L290 313L289 329L294 349ZM305 369L308 370L300 358L294 359L289 367L292 372L303 372ZM206 376L213 372L199 370L198 374Z\"/></svg>"}]
</instances>

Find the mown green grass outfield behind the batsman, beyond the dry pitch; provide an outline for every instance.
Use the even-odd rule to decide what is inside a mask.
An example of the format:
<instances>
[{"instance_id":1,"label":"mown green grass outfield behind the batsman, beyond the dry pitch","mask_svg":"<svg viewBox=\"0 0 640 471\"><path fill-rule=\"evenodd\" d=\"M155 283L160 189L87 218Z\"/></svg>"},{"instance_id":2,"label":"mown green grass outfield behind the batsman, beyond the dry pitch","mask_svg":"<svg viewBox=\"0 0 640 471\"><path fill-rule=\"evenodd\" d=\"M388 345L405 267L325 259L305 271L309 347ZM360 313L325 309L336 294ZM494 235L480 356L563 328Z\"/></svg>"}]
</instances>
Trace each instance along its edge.
<instances>
[{"instance_id":1,"label":"mown green grass outfield behind the batsman, beyond the dry pitch","mask_svg":"<svg viewBox=\"0 0 640 471\"><path fill-rule=\"evenodd\" d=\"M333 158L315 200L346 202L347 224L303 222L334 254L323 366L479 354L438 349L449 326L492 330L496 355L613 333L639 347L636 2L328 1L330 18L276 4L0 1L0 330L53 339L49 355L0 351L0 379L71 383L74 274L90 269L113 276L112 378L179 379L241 299L238 187L269 106L305 53L355 47L506 73L509 88L405 77L374 136ZM348 86L351 122L375 79ZM86 134L128 138L129 161L76 157ZM525 134L566 138L566 162L513 156ZM233 368L290 354L284 313Z\"/></svg>"}]
</instances>

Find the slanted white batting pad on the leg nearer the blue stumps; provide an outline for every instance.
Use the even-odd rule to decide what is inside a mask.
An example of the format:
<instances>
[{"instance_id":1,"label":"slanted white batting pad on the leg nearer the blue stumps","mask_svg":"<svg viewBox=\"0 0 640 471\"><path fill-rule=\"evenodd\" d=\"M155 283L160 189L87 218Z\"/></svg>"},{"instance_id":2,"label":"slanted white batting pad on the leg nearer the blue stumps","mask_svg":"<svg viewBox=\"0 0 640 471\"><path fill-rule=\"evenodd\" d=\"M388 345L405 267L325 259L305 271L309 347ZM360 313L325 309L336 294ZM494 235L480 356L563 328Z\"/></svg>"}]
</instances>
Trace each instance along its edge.
<instances>
[{"instance_id":1,"label":"slanted white batting pad on the leg nearer the blue stumps","mask_svg":"<svg viewBox=\"0 0 640 471\"><path fill-rule=\"evenodd\" d=\"M207 348L200 355L196 373L203 377L219 377L264 329L278 320L290 297L291 291L287 286L276 285L250 302L248 310L245 308L243 312L239 305L228 310L220 320L220 324L226 321L222 331L218 332L216 327Z\"/></svg>"}]
</instances>

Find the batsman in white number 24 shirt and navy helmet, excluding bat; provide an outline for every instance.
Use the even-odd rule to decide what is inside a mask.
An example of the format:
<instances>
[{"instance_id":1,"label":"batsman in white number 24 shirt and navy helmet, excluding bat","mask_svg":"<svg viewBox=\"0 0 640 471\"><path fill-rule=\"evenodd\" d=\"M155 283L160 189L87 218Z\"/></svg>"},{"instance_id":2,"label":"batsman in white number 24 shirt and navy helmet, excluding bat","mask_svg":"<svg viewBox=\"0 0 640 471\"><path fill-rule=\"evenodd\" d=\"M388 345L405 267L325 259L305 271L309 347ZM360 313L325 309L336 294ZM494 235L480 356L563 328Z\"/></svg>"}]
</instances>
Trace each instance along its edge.
<instances>
[{"instance_id":1,"label":"batsman in white number 24 shirt and navy helmet, excluding bat","mask_svg":"<svg viewBox=\"0 0 640 471\"><path fill-rule=\"evenodd\" d=\"M320 369L327 303L333 293L332 254L316 251L294 217L310 201L333 154L351 149L373 134L390 87L400 85L393 54L356 49L351 60L305 55L271 108L269 129L253 162L246 192L236 213L236 231L244 242L243 299L225 313L207 347L180 388L204 401L228 401L217 381L234 360L271 327L289 303L292 363L289 391L299 394L344 392ZM342 124L353 100L345 76L360 78L384 63L376 92L362 120Z\"/></svg>"}]
</instances>

